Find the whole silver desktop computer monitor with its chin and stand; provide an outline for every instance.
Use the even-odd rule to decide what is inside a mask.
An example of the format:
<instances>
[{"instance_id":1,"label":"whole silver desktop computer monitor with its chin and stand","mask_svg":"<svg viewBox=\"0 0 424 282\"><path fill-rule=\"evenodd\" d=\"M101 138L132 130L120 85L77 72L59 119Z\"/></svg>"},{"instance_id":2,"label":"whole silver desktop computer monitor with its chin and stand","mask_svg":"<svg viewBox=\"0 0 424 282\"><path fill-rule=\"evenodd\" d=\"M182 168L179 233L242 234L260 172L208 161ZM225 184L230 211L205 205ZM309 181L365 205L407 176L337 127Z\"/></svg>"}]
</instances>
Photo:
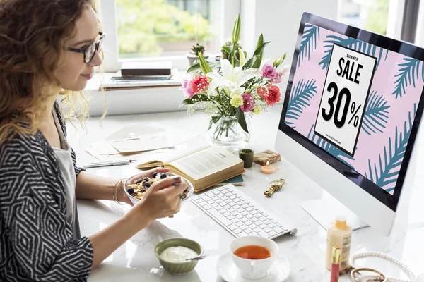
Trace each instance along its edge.
<instances>
[{"instance_id":1,"label":"whole silver desktop computer monitor with its chin and stand","mask_svg":"<svg viewBox=\"0 0 424 282\"><path fill-rule=\"evenodd\" d=\"M390 234L415 173L423 94L423 49L303 14L276 150L348 208L302 203L322 226L343 213Z\"/></svg>"}]
</instances>

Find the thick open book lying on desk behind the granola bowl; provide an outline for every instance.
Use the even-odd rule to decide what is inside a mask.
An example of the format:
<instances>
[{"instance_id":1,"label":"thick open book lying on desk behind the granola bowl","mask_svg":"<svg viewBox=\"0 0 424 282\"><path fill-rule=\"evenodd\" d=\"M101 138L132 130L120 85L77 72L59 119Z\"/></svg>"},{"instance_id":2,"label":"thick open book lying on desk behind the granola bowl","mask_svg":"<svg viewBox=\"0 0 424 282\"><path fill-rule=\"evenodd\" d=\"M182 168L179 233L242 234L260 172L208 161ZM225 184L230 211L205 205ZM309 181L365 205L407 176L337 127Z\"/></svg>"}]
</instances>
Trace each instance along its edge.
<instances>
[{"instance_id":1,"label":"thick open book lying on desk behind the granola bowl","mask_svg":"<svg viewBox=\"0 0 424 282\"><path fill-rule=\"evenodd\" d=\"M192 142L196 142L194 138ZM153 166L164 166L170 171L187 178L193 186L194 191L204 190L213 185L238 176L245 172L243 161L231 152L222 147L210 147L199 145L187 148L184 154L182 151L175 152L174 156L163 154L167 160L151 160L141 162L137 168L149 168ZM168 152L169 153L169 152ZM172 159L179 154L180 157Z\"/></svg>"}]
</instances>

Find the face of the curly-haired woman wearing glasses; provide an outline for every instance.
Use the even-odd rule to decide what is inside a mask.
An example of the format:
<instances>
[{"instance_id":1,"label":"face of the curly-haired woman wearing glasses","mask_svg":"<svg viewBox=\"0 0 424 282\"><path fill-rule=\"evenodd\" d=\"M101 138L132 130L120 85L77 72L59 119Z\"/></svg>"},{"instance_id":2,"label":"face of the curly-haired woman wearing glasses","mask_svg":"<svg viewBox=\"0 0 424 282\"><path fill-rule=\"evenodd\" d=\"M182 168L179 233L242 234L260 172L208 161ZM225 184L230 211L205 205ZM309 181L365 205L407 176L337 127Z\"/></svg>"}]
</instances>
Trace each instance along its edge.
<instances>
[{"instance_id":1,"label":"face of the curly-haired woman wearing glasses","mask_svg":"<svg viewBox=\"0 0 424 282\"><path fill-rule=\"evenodd\" d=\"M85 8L76 21L76 34L65 42L66 47L81 48L98 40L98 20L93 8ZM100 66L102 60L98 52L95 52L90 63L84 62L84 54L73 51L64 51L64 57L59 68L54 74L59 79L60 87L64 90L81 91L88 80L93 77L94 67Z\"/></svg>"}]
</instances>

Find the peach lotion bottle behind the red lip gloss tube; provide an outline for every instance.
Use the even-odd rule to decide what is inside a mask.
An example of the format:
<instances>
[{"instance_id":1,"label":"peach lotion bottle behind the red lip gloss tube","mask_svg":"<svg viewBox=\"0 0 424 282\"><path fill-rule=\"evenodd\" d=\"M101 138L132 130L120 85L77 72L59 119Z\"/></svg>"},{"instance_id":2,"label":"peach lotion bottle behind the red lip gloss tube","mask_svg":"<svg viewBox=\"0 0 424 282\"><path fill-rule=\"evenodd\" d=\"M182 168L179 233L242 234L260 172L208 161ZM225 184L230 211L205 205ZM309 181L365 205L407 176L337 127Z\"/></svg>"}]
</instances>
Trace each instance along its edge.
<instances>
[{"instance_id":1,"label":"peach lotion bottle behind the red lip gloss tube","mask_svg":"<svg viewBox=\"0 0 424 282\"><path fill-rule=\"evenodd\" d=\"M349 255L351 254L352 227L346 223L345 216L337 216L327 232L326 261L325 266L331 270L331 257L333 247L341 247L340 271L350 267Z\"/></svg>"}]
</instances>

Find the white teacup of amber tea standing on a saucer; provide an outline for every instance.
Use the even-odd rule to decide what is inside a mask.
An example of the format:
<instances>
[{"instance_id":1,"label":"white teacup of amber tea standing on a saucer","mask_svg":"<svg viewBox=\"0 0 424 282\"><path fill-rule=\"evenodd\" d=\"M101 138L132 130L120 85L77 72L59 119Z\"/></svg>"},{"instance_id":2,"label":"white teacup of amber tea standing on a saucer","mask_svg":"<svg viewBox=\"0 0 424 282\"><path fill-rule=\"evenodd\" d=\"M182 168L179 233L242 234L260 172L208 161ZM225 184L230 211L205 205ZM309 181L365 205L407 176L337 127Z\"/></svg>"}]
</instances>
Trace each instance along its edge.
<instances>
[{"instance_id":1,"label":"white teacup of amber tea standing on a saucer","mask_svg":"<svg viewBox=\"0 0 424 282\"><path fill-rule=\"evenodd\" d=\"M238 248L250 245L265 247L271 252L271 257L266 257L264 259L245 259L234 254ZM268 270L271 268L275 257L278 255L278 245L271 239L259 236L245 236L233 240L232 243L230 243L230 251L232 260L243 277L247 279L261 279L268 274Z\"/></svg>"}]
</instances>

